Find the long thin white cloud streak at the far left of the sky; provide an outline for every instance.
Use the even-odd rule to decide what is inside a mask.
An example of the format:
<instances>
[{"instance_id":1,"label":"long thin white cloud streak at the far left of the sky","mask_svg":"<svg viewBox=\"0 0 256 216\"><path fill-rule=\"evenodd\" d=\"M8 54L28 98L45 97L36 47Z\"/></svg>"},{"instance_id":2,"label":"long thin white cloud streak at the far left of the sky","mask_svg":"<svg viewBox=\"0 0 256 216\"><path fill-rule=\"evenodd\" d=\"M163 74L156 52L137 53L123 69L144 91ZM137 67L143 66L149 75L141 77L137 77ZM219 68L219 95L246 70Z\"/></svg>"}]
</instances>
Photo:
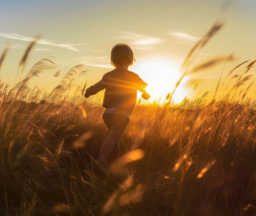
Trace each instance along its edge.
<instances>
[{"instance_id":1,"label":"long thin white cloud streak at the far left of the sky","mask_svg":"<svg viewBox=\"0 0 256 216\"><path fill-rule=\"evenodd\" d=\"M24 36L18 33L1 33L0 32L0 37L5 39L14 39L14 40L22 40L22 41L32 41L34 39L33 37ZM79 52L79 49L76 46L86 45L86 44L57 43L49 39L39 39L37 43L42 45L60 47L60 48L74 51L74 52Z\"/></svg>"}]
</instances>

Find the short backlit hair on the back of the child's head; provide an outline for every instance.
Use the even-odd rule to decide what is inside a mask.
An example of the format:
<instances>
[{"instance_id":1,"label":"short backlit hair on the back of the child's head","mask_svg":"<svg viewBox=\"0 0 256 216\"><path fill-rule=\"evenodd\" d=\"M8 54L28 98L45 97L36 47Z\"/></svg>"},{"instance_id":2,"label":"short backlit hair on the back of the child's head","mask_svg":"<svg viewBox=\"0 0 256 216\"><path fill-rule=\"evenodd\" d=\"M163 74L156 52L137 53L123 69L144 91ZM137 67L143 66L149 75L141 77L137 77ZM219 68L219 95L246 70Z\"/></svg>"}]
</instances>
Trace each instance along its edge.
<instances>
[{"instance_id":1,"label":"short backlit hair on the back of the child's head","mask_svg":"<svg viewBox=\"0 0 256 216\"><path fill-rule=\"evenodd\" d=\"M134 57L130 46L125 43L116 44L111 50L111 63L117 66L131 66Z\"/></svg>"}]
</instances>

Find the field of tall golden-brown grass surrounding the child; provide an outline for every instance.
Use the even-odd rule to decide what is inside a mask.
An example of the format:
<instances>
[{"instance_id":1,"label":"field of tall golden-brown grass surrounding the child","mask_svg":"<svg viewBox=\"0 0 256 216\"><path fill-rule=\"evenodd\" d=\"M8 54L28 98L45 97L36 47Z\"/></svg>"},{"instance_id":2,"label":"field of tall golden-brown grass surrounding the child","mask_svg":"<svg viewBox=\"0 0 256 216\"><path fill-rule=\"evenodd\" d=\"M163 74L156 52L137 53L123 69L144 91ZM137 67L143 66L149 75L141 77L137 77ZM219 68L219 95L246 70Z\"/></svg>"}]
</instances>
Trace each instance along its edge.
<instances>
[{"instance_id":1,"label":"field of tall golden-brown grass surrounding the child","mask_svg":"<svg viewBox=\"0 0 256 216\"><path fill-rule=\"evenodd\" d=\"M215 24L195 44L175 89L185 76L232 59L193 65L221 28ZM40 93L30 82L54 65L50 59L21 80L36 40L22 57L17 84L0 83L0 215L256 215L256 113L246 97L255 61L226 73L229 90L210 103L174 105L174 89L163 105L138 104L119 158L101 177L94 163L107 135L103 108L78 102L84 85L76 86L72 101L65 96L73 79L85 75L84 66Z\"/></svg>"}]
</instances>

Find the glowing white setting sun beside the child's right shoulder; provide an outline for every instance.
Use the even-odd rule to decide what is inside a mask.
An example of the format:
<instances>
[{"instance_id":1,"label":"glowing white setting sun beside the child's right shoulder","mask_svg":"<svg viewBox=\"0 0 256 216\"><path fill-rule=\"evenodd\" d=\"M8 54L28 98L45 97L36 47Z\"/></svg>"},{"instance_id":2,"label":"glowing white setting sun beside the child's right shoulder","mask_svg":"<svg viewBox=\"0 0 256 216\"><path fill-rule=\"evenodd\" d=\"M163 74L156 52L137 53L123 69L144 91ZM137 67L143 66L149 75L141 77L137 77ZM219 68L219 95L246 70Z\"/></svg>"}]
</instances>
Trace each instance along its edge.
<instances>
[{"instance_id":1,"label":"glowing white setting sun beside the child's right shoulder","mask_svg":"<svg viewBox=\"0 0 256 216\"><path fill-rule=\"evenodd\" d=\"M160 103L180 78L178 67L165 59L144 60L136 63L132 69L148 83L146 89L152 95L151 101L157 100ZM187 94L187 89L181 84L172 97L173 102L180 103Z\"/></svg>"}]
</instances>

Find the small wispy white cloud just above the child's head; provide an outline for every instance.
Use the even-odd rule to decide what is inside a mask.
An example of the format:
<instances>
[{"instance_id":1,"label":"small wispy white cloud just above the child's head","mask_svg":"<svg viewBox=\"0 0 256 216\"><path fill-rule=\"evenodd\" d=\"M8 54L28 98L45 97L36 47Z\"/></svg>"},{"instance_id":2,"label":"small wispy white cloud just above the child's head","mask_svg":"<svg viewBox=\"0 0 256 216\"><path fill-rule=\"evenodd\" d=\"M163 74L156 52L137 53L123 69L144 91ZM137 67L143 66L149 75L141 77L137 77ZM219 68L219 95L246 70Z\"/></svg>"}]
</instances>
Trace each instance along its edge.
<instances>
[{"instance_id":1,"label":"small wispy white cloud just above the child's head","mask_svg":"<svg viewBox=\"0 0 256 216\"><path fill-rule=\"evenodd\" d=\"M132 31L121 31L118 39L127 39L134 45L154 45L163 42L160 37L153 37Z\"/></svg>"}]
</instances>

